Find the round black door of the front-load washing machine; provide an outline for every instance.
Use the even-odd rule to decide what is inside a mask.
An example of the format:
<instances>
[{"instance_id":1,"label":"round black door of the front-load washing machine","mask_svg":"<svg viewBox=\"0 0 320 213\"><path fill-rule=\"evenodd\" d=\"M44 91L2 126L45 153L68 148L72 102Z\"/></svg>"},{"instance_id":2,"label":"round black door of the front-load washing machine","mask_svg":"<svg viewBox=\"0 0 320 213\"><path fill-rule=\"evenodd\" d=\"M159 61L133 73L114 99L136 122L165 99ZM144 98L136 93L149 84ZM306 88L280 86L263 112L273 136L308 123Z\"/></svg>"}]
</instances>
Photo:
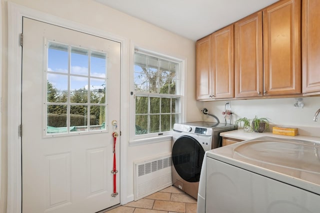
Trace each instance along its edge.
<instances>
[{"instance_id":1,"label":"round black door of the front-load washing machine","mask_svg":"<svg viewBox=\"0 0 320 213\"><path fill-rule=\"evenodd\" d=\"M204 149L190 136L177 138L172 147L172 162L176 172L188 182L198 182Z\"/></svg>"}]
</instances>

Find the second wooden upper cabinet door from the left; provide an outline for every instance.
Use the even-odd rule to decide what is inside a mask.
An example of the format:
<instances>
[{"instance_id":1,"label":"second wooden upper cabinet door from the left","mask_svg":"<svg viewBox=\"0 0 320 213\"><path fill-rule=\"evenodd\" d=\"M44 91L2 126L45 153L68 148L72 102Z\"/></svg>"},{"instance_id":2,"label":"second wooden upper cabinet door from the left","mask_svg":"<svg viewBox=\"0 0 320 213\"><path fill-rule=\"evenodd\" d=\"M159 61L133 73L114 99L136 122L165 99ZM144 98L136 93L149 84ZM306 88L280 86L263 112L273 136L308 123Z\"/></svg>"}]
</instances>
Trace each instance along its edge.
<instances>
[{"instance_id":1,"label":"second wooden upper cabinet door from the left","mask_svg":"<svg viewBox=\"0 0 320 213\"><path fill-rule=\"evenodd\" d=\"M211 34L214 98L234 97L233 24Z\"/></svg>"}]
</instances>

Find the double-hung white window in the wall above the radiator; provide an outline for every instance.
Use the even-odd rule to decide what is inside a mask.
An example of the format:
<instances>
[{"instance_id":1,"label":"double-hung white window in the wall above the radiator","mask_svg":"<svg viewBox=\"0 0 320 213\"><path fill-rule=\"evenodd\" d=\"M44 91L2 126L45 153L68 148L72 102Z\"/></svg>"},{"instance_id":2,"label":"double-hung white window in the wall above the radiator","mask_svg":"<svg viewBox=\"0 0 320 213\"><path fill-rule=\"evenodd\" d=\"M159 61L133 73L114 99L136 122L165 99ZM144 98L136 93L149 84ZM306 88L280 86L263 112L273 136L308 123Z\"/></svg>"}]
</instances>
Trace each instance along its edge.
<instances>
[{"instance_id":1,"label":"double-hung white window in the wall above the radiator","mask_svg":"<svg viewBox=\"0 0 320 213\"><path fill-rule=\"evenodd\" d=\"M183 61L136 49L134 52L135 138L169 134L181 120Z\"/></svg>"}]
</instances>

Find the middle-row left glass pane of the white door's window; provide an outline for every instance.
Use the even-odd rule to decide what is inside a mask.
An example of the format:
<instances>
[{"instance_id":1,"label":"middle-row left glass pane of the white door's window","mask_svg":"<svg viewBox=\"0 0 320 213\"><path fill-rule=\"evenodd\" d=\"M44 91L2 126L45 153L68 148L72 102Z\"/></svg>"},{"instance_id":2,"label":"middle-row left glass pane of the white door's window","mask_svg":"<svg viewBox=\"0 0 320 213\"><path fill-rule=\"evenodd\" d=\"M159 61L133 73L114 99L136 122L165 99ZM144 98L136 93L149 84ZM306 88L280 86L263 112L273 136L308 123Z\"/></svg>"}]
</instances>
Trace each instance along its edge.
<instances>
[{"instance_id":1,"label":"middle-row left glass pane of the white door's window","mask_svg":"<svg viewBox=\"0 0 320 213\"><path fill-rule=\"evenodd\" d=\"M67 102L67 75L48 74L47 75L47 101L48 102Z\"/></svg>"}]
</instances>

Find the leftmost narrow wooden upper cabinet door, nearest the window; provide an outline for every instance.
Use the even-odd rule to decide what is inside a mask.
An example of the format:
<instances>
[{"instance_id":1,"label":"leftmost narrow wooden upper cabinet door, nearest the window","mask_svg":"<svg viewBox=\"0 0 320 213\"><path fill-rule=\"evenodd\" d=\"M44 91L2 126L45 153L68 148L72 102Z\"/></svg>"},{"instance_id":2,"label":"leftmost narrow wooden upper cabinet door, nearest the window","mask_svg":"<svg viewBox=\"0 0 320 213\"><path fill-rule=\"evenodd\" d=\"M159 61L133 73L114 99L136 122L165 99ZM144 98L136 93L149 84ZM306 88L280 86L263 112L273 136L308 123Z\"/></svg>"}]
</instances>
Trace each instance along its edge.
<instances>
[{"instance_id":1,"label":"leftmost narrow wooden upper cabinet door, nearest the window","mask_svg":"<svg viewBox=\"0 0 320 213\"><path fill-rule=\"evenodd\" d=\"M196 99L209 99L212 95L211 36L196 42Z\"/></svg>"}]
</instances>

